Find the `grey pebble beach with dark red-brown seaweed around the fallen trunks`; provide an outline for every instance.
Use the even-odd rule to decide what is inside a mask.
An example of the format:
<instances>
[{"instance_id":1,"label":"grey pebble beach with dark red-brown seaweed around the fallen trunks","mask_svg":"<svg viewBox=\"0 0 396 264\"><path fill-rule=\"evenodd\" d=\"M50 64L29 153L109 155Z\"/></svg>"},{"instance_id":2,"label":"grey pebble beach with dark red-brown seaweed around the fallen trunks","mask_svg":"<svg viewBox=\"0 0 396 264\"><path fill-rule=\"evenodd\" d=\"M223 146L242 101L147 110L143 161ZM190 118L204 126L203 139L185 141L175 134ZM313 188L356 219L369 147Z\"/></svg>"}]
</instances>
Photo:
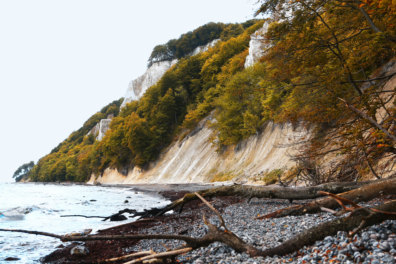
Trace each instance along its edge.
<instances>
[{"instance_id":1,"label":"grey pebble beach with dark red-brown seaweed around the fallen trunks","mask_svg":"<svg viewBox=\"0 0 396 264\"><path fill-rule=\"evenodd\" d=\"M184 184L182 184L184 185ZM168 186L170 187L170 186ZM180 186L179 186L180 187ZM200 186L202 189L210 186ZM152 187L154 193L157 187ZM160 188L160 187L158 187ZM164 198L174 201L184 194L197 190L196 184L183 186L177 190L173 186L161 194ZM195 188L195 189L192 189ZM184 189L184 190L180 190ZM147 192L148 190L142 188ZM157 190L158 192L158 190ZM393 196L375 199L361 205L373 206L394 199ZM211 201L211 199L209 199ZM255 220L253 217L276 211L290 206L289 201L279 199L252 199L246 204L245 198L221 197L213 198L212 205L223 216L226 226L234 234L241 237L247 243L259 249L267 249L280 245L283 241L291 239L299 232L316 224L334 219L329 213L306 214L298 217L284 217L276 219ZM293 204L308 203L312 200L294 201ZM100 235L116 234L182 234L185 236L202 237L206 234L207 227L203 223L202 215L211 223L219 224L217 217L206 206L200 205L201 201L193 201L185 205L183 213L168 214L156 217L154 222L130 223L120 228L115 228ZM122 222L114 222L114 226ZM213 243L207 248L191 251L177 258L178 262L199 264L259 264L271 263L364 263L380 264L395 263L396 260L396 222L386 221L382 224L371 226L356 235L350 242L344 232L334 236L328 236L323 241L316 241L314 245L304 246L299 251L286 256L250 258L246 254L235 252L232 248L222 243ZM84 246L89 253L84 256L71 256L70 250L78 243L71 243L64 248L58 249L41 259L42 263L98 263L100 260L114 258L139 251L154 250L155 252L166 251L162 245L173 249L183 241L172 240L123 240L123 241L89 241ZM112 262L123 263L126 262Z\"/></svg>"}]
</instances>

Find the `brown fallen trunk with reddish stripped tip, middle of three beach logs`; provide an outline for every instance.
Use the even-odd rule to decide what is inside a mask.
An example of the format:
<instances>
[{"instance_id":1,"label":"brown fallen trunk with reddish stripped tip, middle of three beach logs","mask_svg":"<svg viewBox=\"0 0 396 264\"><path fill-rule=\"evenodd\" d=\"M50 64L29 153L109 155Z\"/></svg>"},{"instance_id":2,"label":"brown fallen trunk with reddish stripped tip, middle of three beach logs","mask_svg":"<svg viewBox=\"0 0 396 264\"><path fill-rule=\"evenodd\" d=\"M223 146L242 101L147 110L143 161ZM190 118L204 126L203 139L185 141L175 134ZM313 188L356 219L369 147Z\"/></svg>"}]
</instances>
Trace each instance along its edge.
<instances>
[{"instance_id":1,"label":"brown fallen trunk with reddish stripped tip, middle of three beach logs","mask_svg":"<svg viewBox=\"0 0 396 264\"><path fill-rule=\"evenodd\" d=\"M355 203L359 203L388 194L396 194L396 178L375 182L349 192L338 194L337 196L354 201ZM283 208L267 215L255 217L255 219L280 218L286 217L288 215L305 215L317 213L321 211L320 206L326 207L328 209L337 209L340 207L340 204L334 198L328 197L303 205L295 205Z\"/></svg>"}]
</instances>

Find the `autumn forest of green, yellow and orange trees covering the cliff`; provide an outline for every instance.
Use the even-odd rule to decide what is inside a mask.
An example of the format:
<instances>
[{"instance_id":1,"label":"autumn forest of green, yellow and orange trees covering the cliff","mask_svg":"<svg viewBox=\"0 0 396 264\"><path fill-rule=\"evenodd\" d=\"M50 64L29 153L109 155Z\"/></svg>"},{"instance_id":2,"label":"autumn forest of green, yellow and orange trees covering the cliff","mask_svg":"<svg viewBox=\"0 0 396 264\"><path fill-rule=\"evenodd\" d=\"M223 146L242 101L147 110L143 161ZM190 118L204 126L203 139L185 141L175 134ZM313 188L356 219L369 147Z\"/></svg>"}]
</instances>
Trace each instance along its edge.
<instances>
[{"instance_id":1,"label":"autumn forest of green, yellow and orange trees covering the cliff","mask_svg":"<svg viewBox=\"0 0 396 264\"><path fill-rule=\"evenodd\" d=\"M37 181L85 181L107 167L145 169L171 142L185 137L209 112L216 151L259 132L263 124L292 123L305 132L291 139L295 175L315 184L378 178L392 171L394 141L345 99L385 129L396 128L389 72L396 43L393 1L267 1L245 23L208 23L154 47L150 64L179 61L138 101L123 99L97 112L29 171ZM263 24L266 49L244 68L250 35ZM396 24L395 24L396 25ZM194 47L221 38L208 51ZM88 131L109 113L115 117L102 141ZM337 156L329 171L323 163ZM328 169L328 168L327 168Z\"/></svg>"}]
</instances>

